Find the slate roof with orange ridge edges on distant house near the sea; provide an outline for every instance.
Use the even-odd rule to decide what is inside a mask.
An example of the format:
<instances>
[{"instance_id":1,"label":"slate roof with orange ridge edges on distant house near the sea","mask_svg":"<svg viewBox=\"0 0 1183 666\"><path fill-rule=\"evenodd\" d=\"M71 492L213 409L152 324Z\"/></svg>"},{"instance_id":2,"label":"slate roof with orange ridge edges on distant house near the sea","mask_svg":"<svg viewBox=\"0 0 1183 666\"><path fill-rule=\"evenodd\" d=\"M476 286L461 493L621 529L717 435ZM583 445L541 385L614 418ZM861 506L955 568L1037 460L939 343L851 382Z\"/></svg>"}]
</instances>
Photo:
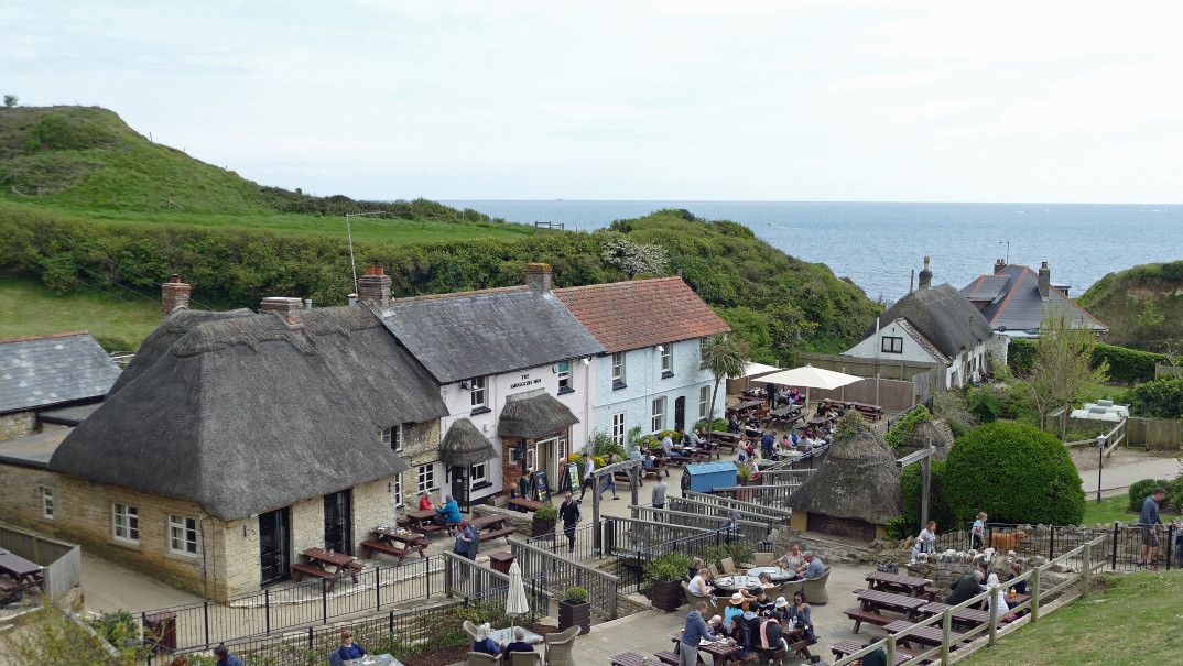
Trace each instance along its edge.
<instances>
[{"instance_id":1,"label":"slate roof with orange ridge edges on distant house near the sea","mask_svg":"<svg viewBox=\"0 0 1183 666\"><path fill-rule=\"evenodd\" d=\"M1043 322L1043 298L1039 292L1039 273L1027 266L1008 265L997 273L980 276L961 290L962 296L971 302L989 300L982 310L990 328L1006 331L1035 330ZM990 295L990 298L987 298ZM1053 285L1048 291L1048 300L1060 310L1072 312L1078 326L1107 331L1108 326L1077 305Z\"/></svg>"}]
</instances>

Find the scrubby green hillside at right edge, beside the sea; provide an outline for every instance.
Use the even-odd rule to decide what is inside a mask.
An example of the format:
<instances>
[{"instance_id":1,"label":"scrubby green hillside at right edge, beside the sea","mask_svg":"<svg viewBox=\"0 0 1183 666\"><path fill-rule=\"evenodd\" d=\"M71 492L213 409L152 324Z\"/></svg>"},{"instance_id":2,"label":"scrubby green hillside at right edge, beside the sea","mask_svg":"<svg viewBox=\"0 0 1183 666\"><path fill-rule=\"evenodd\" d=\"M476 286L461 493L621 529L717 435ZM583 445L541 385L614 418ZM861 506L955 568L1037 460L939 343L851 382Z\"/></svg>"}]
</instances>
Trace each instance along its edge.
<instances>
[{"instance_id":1,"label":"scrubby green hillside at right edge, beside the sea","mask_svg":"<svg viewBox=\"0 0 1183 666\"><path fill-rule=\"evenodd\" d=\"M1183 345L1183 261L1110 273L1077 299L1110 326L1108 342L1178 354Z\"/></svg>"}]
</instances>

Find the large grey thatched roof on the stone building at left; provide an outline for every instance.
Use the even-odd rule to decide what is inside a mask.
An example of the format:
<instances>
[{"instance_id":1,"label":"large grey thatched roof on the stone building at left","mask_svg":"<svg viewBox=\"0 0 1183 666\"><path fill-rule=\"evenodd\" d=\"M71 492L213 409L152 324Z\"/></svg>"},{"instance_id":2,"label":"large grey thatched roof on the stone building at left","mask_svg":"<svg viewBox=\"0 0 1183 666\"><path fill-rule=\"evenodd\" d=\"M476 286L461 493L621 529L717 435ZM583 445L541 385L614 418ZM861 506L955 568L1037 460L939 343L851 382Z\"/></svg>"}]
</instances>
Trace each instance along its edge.
<instances>
[{"instance_id":1,"label":"large grey thatched roof on the stone building at left","mask_svg":"<svg viewBox=\"0 0 1183 666\"><path fill-rule=\"evenodd\" d=\"M406 470L376 429L446 415L438 386L366 308L303 321L198 323L79 425L50 468L195 499L224 520Z\"/></svg>"}]
</instances>

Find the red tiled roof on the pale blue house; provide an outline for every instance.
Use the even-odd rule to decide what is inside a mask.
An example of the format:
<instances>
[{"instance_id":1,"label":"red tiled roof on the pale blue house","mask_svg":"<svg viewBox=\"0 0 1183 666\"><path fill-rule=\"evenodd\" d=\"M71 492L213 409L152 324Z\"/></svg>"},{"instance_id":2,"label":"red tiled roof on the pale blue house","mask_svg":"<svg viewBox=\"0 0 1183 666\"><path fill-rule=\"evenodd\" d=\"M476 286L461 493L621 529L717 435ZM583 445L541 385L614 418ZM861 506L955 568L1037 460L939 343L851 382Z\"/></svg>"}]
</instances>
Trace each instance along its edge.
<instances>
[{"instance_id":1,"label":"red tiled roof on the pale blue house","mask_svg":"<svg viewBox=\"0 0 1183 666\"><path fill-rule=\"evenodd\" d=\"M569 286L555 296L608 354L731 330L681 278Z\"/></svg>"}]
</instances>

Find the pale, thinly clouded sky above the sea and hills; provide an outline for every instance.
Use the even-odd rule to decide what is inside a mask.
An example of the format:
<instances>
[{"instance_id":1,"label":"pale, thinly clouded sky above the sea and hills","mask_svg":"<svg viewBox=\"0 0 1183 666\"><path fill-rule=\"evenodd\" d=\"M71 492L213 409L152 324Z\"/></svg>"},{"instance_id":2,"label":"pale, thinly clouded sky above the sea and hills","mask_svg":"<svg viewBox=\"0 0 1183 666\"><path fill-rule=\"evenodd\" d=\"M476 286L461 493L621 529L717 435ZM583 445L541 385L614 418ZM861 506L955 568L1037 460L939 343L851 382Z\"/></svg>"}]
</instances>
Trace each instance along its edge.
<instances>
[{"instance_id":1,"label":"pale, thinly clouded sky above the sea and hills","mask_svg":"<svg viewBox=\"0 0 1183 666\"><path fill-rule=\"evenodd\" d=\"M1170 1L0 5L0 93L363 199L1169 203Z\"/></svg>"}]
</instances>

